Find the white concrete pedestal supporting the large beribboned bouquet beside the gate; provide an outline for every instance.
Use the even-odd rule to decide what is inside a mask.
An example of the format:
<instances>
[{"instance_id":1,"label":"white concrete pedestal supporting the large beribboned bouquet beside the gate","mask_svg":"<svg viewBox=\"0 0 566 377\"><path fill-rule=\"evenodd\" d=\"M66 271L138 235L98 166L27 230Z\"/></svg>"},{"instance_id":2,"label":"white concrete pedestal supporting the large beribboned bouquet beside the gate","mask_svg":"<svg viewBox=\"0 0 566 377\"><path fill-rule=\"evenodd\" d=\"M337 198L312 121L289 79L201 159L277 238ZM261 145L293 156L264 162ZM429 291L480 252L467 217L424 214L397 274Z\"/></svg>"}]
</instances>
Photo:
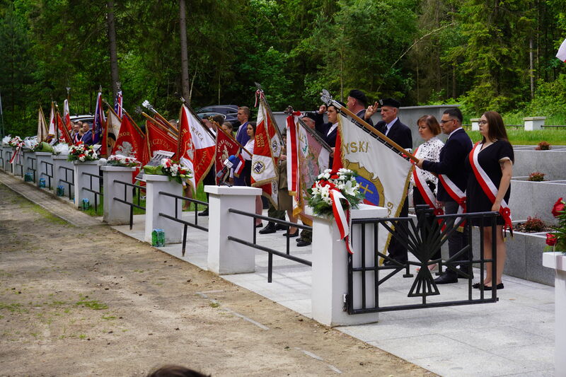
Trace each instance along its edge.
<instances>
[{"instance_id":1,"label":"white concrete pedestal supporting the large beribboned bouquet beside the gate","mask_svg":"<svg viewBox=\"0 0 566 377\"><path fill-rule=\"evenodd\" d=\"M386 217L387 209L362 204L352 210L352 219ZM366 227L366 266L374 262L374 226ZM362 260L362 225L352 226L352 255L354 265ZM328 326L359 325L377 322L378 313L350 315L344 311L344 298L348 293L348 252L345 241L339 240L340 232L333 217L313 216L313 274L312 314L313 319ZM383 248L382 245L379 245ZM374 274L366 272L366 305L374 305ZM354 308L362 306L361 277L354 274Z\"/></svg>"}]
</instances>

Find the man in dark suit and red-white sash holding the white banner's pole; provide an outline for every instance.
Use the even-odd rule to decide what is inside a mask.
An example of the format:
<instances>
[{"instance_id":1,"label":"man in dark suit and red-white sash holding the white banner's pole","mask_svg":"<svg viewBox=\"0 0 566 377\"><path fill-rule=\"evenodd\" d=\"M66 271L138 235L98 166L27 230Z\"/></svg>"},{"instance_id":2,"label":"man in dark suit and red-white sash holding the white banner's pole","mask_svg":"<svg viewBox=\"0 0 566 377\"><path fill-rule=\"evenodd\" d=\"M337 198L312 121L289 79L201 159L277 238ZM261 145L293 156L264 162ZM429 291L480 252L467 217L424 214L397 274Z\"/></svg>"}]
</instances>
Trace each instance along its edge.
<instances>
[{"instance_id":1,"label":"man in dark suit and red-white sash holding the white banner's pole","mask_svg":"<svg viewBox=\"0 0 566 377\"><path fill-rule=\"evenodd\" d=\"M472 149L472 141L466 131L462 128L462 112L458 108L451 108L444 111L440 121L440 128L444 134L448 135L446 144L440 151L439 161L427 161L421 159L417 163L419 168L428 170L439 175L441 185L438 187L438 205L444 205L445 214L456 214L462 205L462 210L466 205L467 173L466 158ZM448 238L448 250L450 257L456 255L466 245L468 245L468 232L466 228L452 232ZM462 262L472 260L471 250L468 255L463 255ZM459 272L446 269L437 279L436 284L457 283L458 277L466 278L468 274L473 274L470 262L460 264Z\"/></svg>"}]
</instances>

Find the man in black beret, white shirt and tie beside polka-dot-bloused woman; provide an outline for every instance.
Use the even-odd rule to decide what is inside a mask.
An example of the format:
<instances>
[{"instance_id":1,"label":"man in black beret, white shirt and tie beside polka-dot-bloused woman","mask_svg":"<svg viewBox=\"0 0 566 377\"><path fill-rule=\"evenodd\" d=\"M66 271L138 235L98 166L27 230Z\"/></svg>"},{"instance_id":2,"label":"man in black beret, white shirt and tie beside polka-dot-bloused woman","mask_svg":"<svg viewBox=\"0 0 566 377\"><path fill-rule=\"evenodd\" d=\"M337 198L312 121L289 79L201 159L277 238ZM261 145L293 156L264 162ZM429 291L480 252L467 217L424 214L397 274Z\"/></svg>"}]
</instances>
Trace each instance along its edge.
<instances>
[{"instance_id":1,"label":"man in black beret, white shirt and tie beside polka-dot-bloused woman","mask_svg":"<svg viewBox=\"0 0 566 377\"><path fill-rule=\"evenodd\" d=\"M394 100L393 98L386 98L384 100L379 100L379 105L381 105L382 120L377 122L375 125L376 129L378 129L382 134L385 134L389 139L395 141L395 143L399 144L402 148L411 151L411 130L405 124L401 123L397 116L400 107L399 101ZM403 203L403 207L401 207L399 216L409 216L409 200L407 197L405 197L405 202ZM398 262L405 263L408 260L407 248L401 245L394 236L391 236L387 251L389 256ZM384 265L395 265L395 263L391 262L391 260L386 260Z\"/></svg>"}]
</instances>

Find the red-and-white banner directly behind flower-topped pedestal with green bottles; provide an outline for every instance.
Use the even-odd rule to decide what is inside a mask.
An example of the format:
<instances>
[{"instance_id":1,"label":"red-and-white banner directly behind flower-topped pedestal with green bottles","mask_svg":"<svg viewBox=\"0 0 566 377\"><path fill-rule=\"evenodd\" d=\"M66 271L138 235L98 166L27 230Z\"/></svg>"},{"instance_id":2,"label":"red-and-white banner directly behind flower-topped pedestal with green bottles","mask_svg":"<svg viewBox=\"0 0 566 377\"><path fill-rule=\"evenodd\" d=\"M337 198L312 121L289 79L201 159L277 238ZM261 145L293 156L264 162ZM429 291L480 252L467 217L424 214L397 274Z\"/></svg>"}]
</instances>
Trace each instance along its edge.
<instances>
[{"instance_id":1,"label":"red-and-white banner directly behind flower-topped pedestal with green bottles","mask_svg":"<svg viewBox=\"0 0 566 377\"><path fill-rule=\"evenodd\" d=\"M181 106L179 115L179 138L179 160L192 171L188 182L196 192L214 163L216 141L185 105Z\"/></svg>"}]
</instances>

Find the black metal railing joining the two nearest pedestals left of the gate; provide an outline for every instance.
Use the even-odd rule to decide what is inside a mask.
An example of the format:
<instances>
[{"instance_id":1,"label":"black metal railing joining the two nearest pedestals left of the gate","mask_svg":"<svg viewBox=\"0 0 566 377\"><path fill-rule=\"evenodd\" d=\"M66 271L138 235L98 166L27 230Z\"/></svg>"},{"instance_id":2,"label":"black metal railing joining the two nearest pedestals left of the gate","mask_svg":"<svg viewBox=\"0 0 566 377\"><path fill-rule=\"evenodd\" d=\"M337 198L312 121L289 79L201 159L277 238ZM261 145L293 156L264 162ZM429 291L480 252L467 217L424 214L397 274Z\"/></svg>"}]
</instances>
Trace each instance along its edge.
<instances>
[{"instance_id":1,"label":"black metal railing joining the two nearest pedestals left of the gate","mask_svg":"<svg viewBox=\"0 0 566 377\"><path fill-rule=\"evenodd\" d=\"M258 214L251 213L251 212L240 211L238 209L232 209L231 208L228 211L233 213L233 214L240 214L242 216L248 216L248 217L252 218L253 243L250 243L246 240L243 240L243 239L237 238L237 237L233 237L233 236L228 236L228 239L233 240L234 242L237 242L237 243L241 243L242 245L249 246L250 248L254 248L256 250L265 251L265 253L267 253L267 282L268 283L272 282L272 277L273 277L273 255L277 255L278 257L282 257L282 258L285 258L285 259L288 259L288 260L292 260L294 262L301 263L301 265L307 265L309 267L312 267L313 263L310 260L295 257L294 255L291 255L291 253L289 252L289 227L293 226L295 228L304 229L306 231L312 231L313 230L312 226L308 226L308 225L304 225L304 224L295 224L295 223L291 223L289 221L285 221L285 220L281 220L281 219L275 219L275 218L272 218L272 217L258 215ZM265 246L258 245L256 243L256 241L257 241L257 228L255 228L255 219L272 221L275 224L281 224L281 225L287 226L287 236L286 236L287 245L286 245L286 252L285 253L282 253L282 252L275 250L275 249L272 249L272 248L266 248ZM299 230L297 230L297 231L299 231Z\"/></svg>"}]
</instances>

